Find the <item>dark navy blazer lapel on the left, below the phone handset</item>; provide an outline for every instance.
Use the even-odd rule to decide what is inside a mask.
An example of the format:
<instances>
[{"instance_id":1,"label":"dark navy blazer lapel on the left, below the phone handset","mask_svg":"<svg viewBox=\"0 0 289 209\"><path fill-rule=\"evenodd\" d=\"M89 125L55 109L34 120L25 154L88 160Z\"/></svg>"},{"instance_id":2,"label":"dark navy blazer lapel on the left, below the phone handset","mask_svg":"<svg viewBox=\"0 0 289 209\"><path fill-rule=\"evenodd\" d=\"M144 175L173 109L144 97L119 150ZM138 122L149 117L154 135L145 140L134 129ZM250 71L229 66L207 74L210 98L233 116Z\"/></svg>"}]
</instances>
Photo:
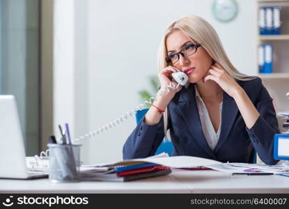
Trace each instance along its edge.
<instances>
[{"instance_id":1,"label":"dark navy blazer lapel on the left, below the phone handset","mask_svg":"<svg viewBox=\"0 0 289 209\"><path fill-rule=\"evenodd\" d=\"M177 109L180 111L185 123L187 123L187 128L192 133L194 139L196 139L198 144L200 144L201 148L208 153L208 155L215 157L203 134L198 107L196 105L194 84L191 84L189 88L180 91L177 106Z\"/></svg>"}]
</instances>

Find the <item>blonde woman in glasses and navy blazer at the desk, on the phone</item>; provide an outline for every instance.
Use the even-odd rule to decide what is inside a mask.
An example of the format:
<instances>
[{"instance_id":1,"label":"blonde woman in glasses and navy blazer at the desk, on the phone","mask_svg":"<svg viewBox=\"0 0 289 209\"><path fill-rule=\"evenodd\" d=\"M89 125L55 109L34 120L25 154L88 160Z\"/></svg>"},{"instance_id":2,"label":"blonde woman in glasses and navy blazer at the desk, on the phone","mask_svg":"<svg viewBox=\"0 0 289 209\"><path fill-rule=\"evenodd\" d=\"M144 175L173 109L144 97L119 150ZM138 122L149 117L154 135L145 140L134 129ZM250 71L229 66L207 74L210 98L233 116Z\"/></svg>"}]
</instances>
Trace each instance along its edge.
<instances>
[{"instance_id":1,"label":"blonde woman in glasses and navy blazer at the desk, on the phone","mask_svg":"<svg viewBox=\"0 0 289 209\"><path fill-rule=\"evenodd\" d=\"M173 72L185 72L189 85L157 96L125 142L124 159L154 155L170 130L173 155L252 162L256 151L266 164L278 162L273 158L279 128L272 98L260 78L233 66L203 18L190 15L169 25L158 68L160 91L173 82Z\"/></svg>"}]
</instances>

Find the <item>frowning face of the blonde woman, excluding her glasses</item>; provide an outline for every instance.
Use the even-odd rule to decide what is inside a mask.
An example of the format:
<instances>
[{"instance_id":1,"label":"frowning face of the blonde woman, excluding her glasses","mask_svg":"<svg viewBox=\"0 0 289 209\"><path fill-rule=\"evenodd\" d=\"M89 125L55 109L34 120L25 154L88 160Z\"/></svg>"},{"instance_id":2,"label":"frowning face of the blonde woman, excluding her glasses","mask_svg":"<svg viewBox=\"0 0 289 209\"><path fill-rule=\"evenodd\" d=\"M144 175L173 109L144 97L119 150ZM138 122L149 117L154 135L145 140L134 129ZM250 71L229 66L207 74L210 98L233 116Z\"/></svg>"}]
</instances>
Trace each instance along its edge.
<instances>
[{"instance_id":1,"label":"frowning face of the blonde woman, excluding her glasses","mask_svg":"<svg viewBox=\"0 0 289 209\"><path fill-rule=\"evenodd\" d=\"M180 52L180 50L192 43L195 45L198 44L197 42L192 42L182 31L173 31L173 33L166 38L168 56L169 54ZM212 58L203 47L198 47L196 53L191 56L185 58L181 54L179 54L179 56L180 59L172 66L182 72L186 72L190 83L196 83L203 79L212 65Z\"/></svg>"}]
</instances>

